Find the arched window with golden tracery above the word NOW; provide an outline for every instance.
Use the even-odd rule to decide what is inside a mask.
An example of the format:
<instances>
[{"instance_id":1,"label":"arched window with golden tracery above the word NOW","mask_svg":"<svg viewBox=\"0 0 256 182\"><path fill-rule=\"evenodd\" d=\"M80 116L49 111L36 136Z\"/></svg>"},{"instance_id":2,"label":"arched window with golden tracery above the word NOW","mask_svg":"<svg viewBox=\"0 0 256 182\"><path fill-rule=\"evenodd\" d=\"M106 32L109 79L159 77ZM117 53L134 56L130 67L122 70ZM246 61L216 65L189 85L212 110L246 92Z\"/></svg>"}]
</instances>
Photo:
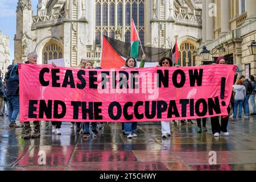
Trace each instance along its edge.
<instances>
[{"instance_id":1,"label":"arched window with golden tracery above the word NOW","mask_svg":"<svg viewBox=\"0 0 256 182\"><path fill-rule=\"evenodd\" d=\"M196 47L193 46L191 43L181 43L180 45L180 60L181 60L181 66L182 67L194 67L196 65Z\"/></svg>"}]
</instances>

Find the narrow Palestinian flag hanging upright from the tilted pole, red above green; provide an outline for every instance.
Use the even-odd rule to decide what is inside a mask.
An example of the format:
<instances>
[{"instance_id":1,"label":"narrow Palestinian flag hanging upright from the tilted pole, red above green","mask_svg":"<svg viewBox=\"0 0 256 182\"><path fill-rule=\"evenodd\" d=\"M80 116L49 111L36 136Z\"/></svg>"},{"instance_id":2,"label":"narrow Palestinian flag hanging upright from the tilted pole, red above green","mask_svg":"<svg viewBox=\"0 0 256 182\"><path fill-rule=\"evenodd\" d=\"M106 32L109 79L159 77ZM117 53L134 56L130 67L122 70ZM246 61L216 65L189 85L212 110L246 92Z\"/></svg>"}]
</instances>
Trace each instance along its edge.
<instances>
[{"instance_id":1,"label":"narrow Palestinian flag hanging upright from the tilted pole, red above green","mask_svg":"<svg viewBox=\"0 0 256 182\"><path fill-rule=\"evenodd\" d=\"M137 59L137 56L139 54L139 43L141 40L139 40L139 34L136 29L134 20L131 19L131 57L134 57L134 59Z\"/></svg>"}]
</instances>

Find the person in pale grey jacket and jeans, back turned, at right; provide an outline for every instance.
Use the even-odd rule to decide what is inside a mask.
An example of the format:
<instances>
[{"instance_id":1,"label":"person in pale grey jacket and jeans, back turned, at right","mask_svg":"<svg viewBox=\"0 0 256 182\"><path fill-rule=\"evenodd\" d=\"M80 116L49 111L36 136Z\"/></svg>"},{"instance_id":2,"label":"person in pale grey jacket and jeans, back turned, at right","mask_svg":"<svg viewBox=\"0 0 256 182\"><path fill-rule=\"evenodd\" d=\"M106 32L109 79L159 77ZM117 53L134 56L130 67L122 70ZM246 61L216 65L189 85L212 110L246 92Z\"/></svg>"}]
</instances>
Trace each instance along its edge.
<instances>
[{"instance_id":1,"label":"person in pale grey jacket and jeans, back turned, at right","mask_svg":"<svg viewBox=\"0 0 256 182\"><path fill-rule=\"evenodd\" d=\"M234 114L233 117L237 117L237 106L239 106L239 114L238 118L242 117L242 107L243 107L243 100L245 100L246 96L246 89L245 86L243 86L243 81L238 80L237 84L234 86L234 92L236 92L235 98L234 98Z\"/></svg>"}]
</instances>

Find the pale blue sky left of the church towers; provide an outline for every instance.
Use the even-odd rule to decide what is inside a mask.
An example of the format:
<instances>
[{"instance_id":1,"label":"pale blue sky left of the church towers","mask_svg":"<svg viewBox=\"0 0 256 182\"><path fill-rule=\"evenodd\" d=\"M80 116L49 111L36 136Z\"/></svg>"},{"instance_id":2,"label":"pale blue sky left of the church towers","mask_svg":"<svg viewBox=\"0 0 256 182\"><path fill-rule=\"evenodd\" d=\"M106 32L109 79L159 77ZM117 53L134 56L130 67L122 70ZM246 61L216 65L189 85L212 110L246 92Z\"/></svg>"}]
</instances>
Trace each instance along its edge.
<instances>
[{"instance_id":1,"label":"pale blue sky left of the church towers","mask_svg":"<svg viewBox=\"0 0 256 182\"><path fill-rule=\"evenodd\" d=\"M38 0L31 0L33 14L36 14ZM0 0L0 30L10 37L10 63L14 59L14 35L16 34L16 7L18 0Z\"/></svg>"}]
</instances>

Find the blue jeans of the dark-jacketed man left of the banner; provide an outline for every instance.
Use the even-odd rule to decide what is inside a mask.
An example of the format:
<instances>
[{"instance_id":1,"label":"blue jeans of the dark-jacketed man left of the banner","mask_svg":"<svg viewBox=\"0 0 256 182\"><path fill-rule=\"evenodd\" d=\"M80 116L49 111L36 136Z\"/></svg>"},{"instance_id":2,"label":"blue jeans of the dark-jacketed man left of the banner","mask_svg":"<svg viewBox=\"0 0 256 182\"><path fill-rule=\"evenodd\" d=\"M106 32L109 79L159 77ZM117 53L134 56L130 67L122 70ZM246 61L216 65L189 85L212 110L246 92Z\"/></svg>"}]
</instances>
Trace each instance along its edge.
<instances>
[{"instance_id":1,"label":"blue jeans of the dark-jacketed man left of the banner","mask_svg":"<svg viewBox=\"0 0 256 182\"><path fill-rule=\"evenodd\" d=\"M9 104L9 121L15 123L17 115L19 114L19 96L8 97Z\"/></svg>"}]
</instances>

